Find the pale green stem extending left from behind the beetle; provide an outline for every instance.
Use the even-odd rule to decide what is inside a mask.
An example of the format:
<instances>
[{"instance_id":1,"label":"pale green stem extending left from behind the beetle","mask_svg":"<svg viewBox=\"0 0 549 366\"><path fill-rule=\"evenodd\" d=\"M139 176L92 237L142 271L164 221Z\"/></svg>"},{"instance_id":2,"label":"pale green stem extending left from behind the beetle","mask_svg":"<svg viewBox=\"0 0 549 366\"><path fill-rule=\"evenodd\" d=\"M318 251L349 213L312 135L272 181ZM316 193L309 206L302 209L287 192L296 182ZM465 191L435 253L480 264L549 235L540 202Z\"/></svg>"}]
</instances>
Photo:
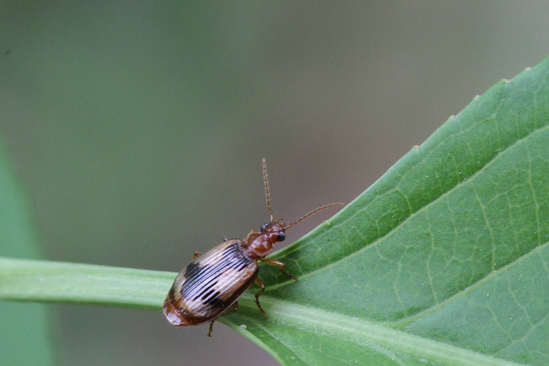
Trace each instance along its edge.
<instances>
[{"instance_id":1,"label":"pale green stem extending left from behind the beetle","mask_svg":"<svg viewBox=\"0 0 549 366\"><path fill-rule=\"evenodd\" d=\"M0 257L0 299L160 310L176 273Z\"/></svg>"}]
</instances>

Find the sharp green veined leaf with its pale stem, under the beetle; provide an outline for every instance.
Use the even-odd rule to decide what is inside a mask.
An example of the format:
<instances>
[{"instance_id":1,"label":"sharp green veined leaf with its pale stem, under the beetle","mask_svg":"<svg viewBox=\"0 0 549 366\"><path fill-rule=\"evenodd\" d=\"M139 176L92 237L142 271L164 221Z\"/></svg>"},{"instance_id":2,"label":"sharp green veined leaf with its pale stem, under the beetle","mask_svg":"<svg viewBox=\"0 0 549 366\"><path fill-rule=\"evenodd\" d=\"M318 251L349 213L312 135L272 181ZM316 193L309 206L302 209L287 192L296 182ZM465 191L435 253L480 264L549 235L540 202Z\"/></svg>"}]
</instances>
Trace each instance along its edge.
<instances>
[{"instance_id":1,"label":"sharp green veined leaf with its pale stem, under the beetle","mask_svg":"<svg viewBox=\"0 0 549 366\"><path fill-rule=\"evenodd\" d=\"M548 79L474 98L273 255L299 282L261 268L267 320L248 292L220 321L286 365L549 363ZM0 297L158 310L174 276L4 259Z\"/></svg>"}]
</instances>

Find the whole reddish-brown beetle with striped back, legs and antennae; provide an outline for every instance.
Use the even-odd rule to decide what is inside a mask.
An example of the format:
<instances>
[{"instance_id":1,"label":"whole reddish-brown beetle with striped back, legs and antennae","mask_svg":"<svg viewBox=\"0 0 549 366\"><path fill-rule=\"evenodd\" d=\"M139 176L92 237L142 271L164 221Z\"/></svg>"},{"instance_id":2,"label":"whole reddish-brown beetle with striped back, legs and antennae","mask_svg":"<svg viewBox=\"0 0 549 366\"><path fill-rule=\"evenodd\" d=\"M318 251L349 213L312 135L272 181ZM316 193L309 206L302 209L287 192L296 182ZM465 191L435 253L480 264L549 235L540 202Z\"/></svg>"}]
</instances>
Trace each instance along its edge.
<instances>
[{"instance_id":1,"label":"whole reddish-brown beetle with striped back, legs and antennae","mask_svg":"<svg viewBox=\"0 0 549 366\"><path fill-rule=\"evenodd\" d=\"M284 275L297 281L284 271L285 264L279 260L265 258L274 251L273 244L282 242L285 231L318 211L342 203L318 207L305 216L286 225L283 219L274 220L270 207L267 163L263 163L265 198L270 221L261 225L260 231L251 229L244 239L225 239L201 255L194 253L193 261L177 275L163 304L166 319L173 325L200 325L210 322L208 336L211 336L213 322L222 314L232 314L238 309L238 298L255 282L260 290L255 294L255 303L266 318L266 312L259 304L259 296L265 285L257 277L260 260L270 266L277 266ZM229 307L232 306L232 309Z\"/></svg>"}]
</instances>

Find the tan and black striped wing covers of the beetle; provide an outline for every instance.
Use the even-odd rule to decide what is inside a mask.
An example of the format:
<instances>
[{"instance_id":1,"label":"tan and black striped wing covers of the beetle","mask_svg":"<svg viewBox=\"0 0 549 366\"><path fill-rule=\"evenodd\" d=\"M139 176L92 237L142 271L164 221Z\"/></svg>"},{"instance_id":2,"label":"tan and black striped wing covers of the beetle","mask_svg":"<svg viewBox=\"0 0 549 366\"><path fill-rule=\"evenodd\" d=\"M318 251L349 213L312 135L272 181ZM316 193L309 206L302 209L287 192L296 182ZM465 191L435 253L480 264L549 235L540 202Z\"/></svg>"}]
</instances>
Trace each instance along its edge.
<instances>
[{"instance_id":1,"label":"tan and black striped wing covers of the beetle","mask_svg":"<svg viewBox=\"0 0 549 366\"><path fill-rule=\"evenodd\" d=\"M257 277L257 262L242 252L242 240L222 242L193 260L176 277L164 301L174 325L198 325L219 317Z\"/></svg>"}]
</instances>

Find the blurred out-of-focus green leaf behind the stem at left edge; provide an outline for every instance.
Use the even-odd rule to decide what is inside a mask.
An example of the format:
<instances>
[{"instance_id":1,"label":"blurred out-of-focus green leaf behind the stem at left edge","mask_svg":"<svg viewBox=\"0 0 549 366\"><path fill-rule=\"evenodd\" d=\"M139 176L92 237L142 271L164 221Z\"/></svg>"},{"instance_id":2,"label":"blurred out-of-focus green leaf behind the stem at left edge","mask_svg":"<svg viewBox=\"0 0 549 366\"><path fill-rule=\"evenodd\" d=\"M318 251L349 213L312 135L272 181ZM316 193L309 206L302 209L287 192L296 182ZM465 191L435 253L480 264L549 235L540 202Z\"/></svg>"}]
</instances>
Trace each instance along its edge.
<instances>
[{"instance_id":1,"label":"blurred out-of-focus green leaf behind the stem at left edge","mask_svg":"<svg viewBox=\"0 0 549 366\"><path fill-rule=\"evenodd\" d=\"M0 144L0 255L40 258L39 247L21 187ZM56 364L48 316L42 304L0 301L2 365Z\"/></svg>"}]
</instances>

